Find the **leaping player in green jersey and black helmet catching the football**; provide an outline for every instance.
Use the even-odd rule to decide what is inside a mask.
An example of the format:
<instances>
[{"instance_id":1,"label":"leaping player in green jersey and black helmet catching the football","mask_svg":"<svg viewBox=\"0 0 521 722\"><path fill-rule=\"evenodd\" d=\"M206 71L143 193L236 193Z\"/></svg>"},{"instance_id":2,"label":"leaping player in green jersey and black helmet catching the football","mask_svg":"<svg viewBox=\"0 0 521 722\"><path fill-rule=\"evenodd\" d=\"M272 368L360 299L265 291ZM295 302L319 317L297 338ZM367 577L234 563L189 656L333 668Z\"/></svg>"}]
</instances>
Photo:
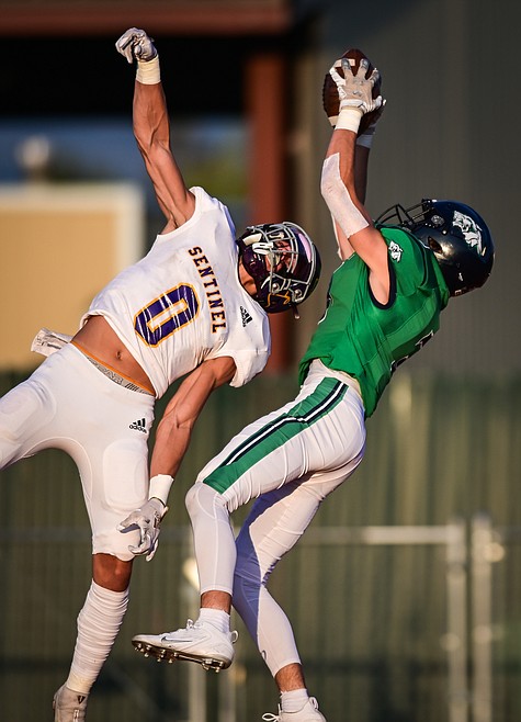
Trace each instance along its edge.
<instances>
[{"instance_id":1,"label":"leaping player in green jersey and black helmet catching the football","mask_svg":"<svg viewBox=\"0 0 521 722\"><path fill-rule=\"evenodd\" d=\"M231 599L281 692L279 722L324 722L309 698L292 627L267 589L279 560L298 541L322 499L362 461L365 418L394 370L439 328L451 296L487 280L494 246L468 206L424 200L395 206L373 223L364 208L371 127L363 114L377 70L366 79L348 60L333 66L340 113L322 167L321 192L331 212L341 266L326 314L301 362L301 391L282 408L246 427L201 472L186 495L201 582L195 623L134 638L159 659L190 659L224 668L234 658ZM234 539L229 515L256 498Z\"/></svg>"}]
</instances>

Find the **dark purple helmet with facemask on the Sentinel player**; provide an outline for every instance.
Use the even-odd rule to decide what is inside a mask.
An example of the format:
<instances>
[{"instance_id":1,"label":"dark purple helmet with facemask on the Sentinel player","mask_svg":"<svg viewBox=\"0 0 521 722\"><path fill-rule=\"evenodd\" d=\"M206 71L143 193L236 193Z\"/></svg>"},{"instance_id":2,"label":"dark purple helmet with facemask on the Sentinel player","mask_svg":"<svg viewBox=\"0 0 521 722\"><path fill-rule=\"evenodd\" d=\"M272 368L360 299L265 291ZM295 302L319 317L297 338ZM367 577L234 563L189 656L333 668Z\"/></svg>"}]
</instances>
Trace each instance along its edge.
<instances>
[{"instance_id":1,"label":"dark purple helmet with facemask on the Sentinel player","mask_svg":"<svg viewBox=\"0 0 521 722\"><path fill-rule=\"evenodd\" d=\"M268 313L295 311L315 289L320 257L296 224L249 226L237 245L242 264L256 283L253 298Z\"/></svg>"}]
</instances>

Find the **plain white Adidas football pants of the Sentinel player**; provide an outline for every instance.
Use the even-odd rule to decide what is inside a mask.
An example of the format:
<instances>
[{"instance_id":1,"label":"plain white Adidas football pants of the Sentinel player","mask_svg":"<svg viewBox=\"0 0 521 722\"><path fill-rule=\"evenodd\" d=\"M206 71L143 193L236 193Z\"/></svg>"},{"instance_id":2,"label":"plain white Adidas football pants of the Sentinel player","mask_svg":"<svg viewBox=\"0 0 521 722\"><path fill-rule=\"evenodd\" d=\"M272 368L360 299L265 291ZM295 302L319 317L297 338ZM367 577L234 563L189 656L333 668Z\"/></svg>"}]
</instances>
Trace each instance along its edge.
<instances>
[{"instance_id":1,"label":"plain white Adidas football pants of the Sentinel player","mask_svg":"<svg viewBox=\"0 0 521 722\"><path fill-rule=\"evenodd\" d=\"M92 553L129 561L139 532L122 533L117 524L148 496L154 403L118 386L68 343L0 399L0 469L42 449L66 451L80 473Z\"/></svg>"}]
</instances>

